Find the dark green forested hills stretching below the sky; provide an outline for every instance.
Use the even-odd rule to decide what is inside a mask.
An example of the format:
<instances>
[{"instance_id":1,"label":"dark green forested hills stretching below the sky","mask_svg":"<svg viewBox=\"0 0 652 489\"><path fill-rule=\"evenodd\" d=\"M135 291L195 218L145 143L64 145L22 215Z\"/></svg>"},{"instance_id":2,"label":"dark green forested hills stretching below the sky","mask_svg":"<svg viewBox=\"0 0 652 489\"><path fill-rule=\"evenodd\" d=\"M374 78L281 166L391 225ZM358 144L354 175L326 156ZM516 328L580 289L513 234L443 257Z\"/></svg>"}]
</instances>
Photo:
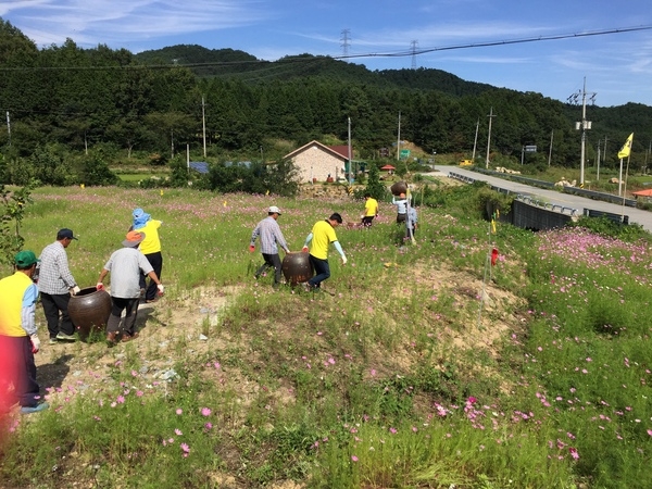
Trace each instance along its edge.
<instances>
[{"instance_id":1,"label":"dark green forested hills stretching below the sky","mask_svg":"<svg viewBox=\"0 0 652 489\"><path fill-rule=\"evenodd\" d=\"M288 146L312 139L346 141L349 117L355 158L372 159L396 142L399 112L401 139L427 152L468 155L477 128L482 154L492 109L497 158L517 162L524 146L536 145L541 151L529 163L547 164L554 135L552 163L579 166L580 108L439 70L373 72L311 54L267 62L200 46L133 54L102 45L82 49L72 39L39 50L0 20L0 109L8 116L0 127L4 161L34 159L38 148L57 145L78 154L102 149L106 158L158 154L161 162L187 143L200 149L204 126L214 159L252 159L261 147L266 159L279 159ZM634 140L632 167L643 164L652 108L589 106L587 118L593 123L587 131L589 161L606 137L615 164L617 147L635 131L640 137ZM277 147L278 140L286 146Z\"/></svg>"}]
</instances>

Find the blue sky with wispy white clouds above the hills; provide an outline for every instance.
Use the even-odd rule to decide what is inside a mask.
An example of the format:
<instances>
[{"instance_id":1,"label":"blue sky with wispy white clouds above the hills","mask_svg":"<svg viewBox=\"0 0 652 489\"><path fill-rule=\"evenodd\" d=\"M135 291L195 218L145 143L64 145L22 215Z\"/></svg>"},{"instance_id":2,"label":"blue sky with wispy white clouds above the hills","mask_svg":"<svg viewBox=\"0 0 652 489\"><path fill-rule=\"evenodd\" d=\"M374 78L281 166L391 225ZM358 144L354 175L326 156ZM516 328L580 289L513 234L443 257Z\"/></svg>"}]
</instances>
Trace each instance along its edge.
<instances>
[{"instance_id":1,"label":"blue sky with wispy white clouds above the hills","mask_svg":"<svg viewBox=\"0 0 652 489\"><path fill-rule=\"evenodd\" d=\"M600 106L652 105L650 0L0 0L0 17L38 47L131 52L174 45L240 49L262 60L362 57L369 70L438 68L469 82ZM344 32L348 41L344 42ZM574 36L491 47L471 45ZM442 49L455 46L462 49ZM413 51L432 50L413 57Z\"/></svg>"}]
</instances>

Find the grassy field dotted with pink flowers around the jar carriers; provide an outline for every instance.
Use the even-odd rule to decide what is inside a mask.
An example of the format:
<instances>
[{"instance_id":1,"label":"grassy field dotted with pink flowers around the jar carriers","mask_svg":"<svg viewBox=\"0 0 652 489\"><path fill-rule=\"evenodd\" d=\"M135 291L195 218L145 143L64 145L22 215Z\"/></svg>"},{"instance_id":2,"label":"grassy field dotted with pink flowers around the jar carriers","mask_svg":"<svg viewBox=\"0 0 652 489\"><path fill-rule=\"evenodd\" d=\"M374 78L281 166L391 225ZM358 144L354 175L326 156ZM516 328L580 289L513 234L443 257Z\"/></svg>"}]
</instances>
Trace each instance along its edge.
<instances>
[{"instance_id":1,"label":"grassy field dotted with pink flowers around the jar carriers","mask_svg":"<svg viewBox=\"0 0 652 489\"><path fill-rule=\"evenodd\" d=\"M0 487L648 487L648 242L492 233L471 187L439 192L415 244L387 202L339 227L349 263L333 250L326 291L304 293L253 279L251 230L278 205L299 251L362 202L36 190L25 248L74 229L83 287L134 208L162 220L166 294L137 341L43 347L51 409L5 419Z\"/></svg>"}]
</instances>

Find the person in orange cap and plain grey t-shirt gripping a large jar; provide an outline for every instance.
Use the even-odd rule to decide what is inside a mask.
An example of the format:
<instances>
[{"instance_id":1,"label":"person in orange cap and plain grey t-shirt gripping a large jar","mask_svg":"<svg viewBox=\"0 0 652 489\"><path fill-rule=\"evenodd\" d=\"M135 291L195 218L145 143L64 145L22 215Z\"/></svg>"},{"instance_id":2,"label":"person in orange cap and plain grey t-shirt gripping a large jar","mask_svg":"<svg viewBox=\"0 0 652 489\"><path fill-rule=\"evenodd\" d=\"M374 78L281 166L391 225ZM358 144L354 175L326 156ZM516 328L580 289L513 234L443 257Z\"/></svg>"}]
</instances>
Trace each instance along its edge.
<instances>
[{"instance_id":1,"label":"person in orange cap and plain grey t-shirt gripping a large jar","mask_svg":"<svg viewBox=\"0 0 652 489\"><path fill-rule=\"evenodd\" d=\"M98 278L96 287L102 290L104 277L111 273L111 315L106 322L106 343L110 347L117 342L121 331L122 341L138 338L136 319L140 299L140 275L147 275L156 284L159 294L163 294L165 290L152 265L138 249L145 238L145 233L127 233L122 242L123 248L111 254ZM121 328L123 311L125 318Z\"/></svg>"}]
</instances>

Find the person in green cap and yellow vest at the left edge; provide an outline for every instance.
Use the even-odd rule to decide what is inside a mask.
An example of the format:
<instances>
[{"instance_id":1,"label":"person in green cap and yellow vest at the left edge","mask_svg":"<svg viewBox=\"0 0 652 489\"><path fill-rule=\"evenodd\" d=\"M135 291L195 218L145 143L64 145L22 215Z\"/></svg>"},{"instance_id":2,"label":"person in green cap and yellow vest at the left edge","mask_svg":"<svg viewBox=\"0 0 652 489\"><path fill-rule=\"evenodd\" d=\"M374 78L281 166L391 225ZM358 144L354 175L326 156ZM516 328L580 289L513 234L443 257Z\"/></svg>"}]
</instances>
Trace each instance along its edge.
<instances>
[{"instance_id":1,"label":"person in green cap and yellow vest at the left edge","mask_svg":"<svg viewBox=\"0 0 652 489\"><path fill-rule=\"evenodd\" d=\"M15 255L15 272L0 280L0 405L7 411L18 402L21 413L29 414L48 408L39 403L40 387L36 381L34 353L40 349L35 312L38 287L32 280L38 260L24 250ZM5 391L13 385L11 391Z\"/></svg>"}]
</instances>

